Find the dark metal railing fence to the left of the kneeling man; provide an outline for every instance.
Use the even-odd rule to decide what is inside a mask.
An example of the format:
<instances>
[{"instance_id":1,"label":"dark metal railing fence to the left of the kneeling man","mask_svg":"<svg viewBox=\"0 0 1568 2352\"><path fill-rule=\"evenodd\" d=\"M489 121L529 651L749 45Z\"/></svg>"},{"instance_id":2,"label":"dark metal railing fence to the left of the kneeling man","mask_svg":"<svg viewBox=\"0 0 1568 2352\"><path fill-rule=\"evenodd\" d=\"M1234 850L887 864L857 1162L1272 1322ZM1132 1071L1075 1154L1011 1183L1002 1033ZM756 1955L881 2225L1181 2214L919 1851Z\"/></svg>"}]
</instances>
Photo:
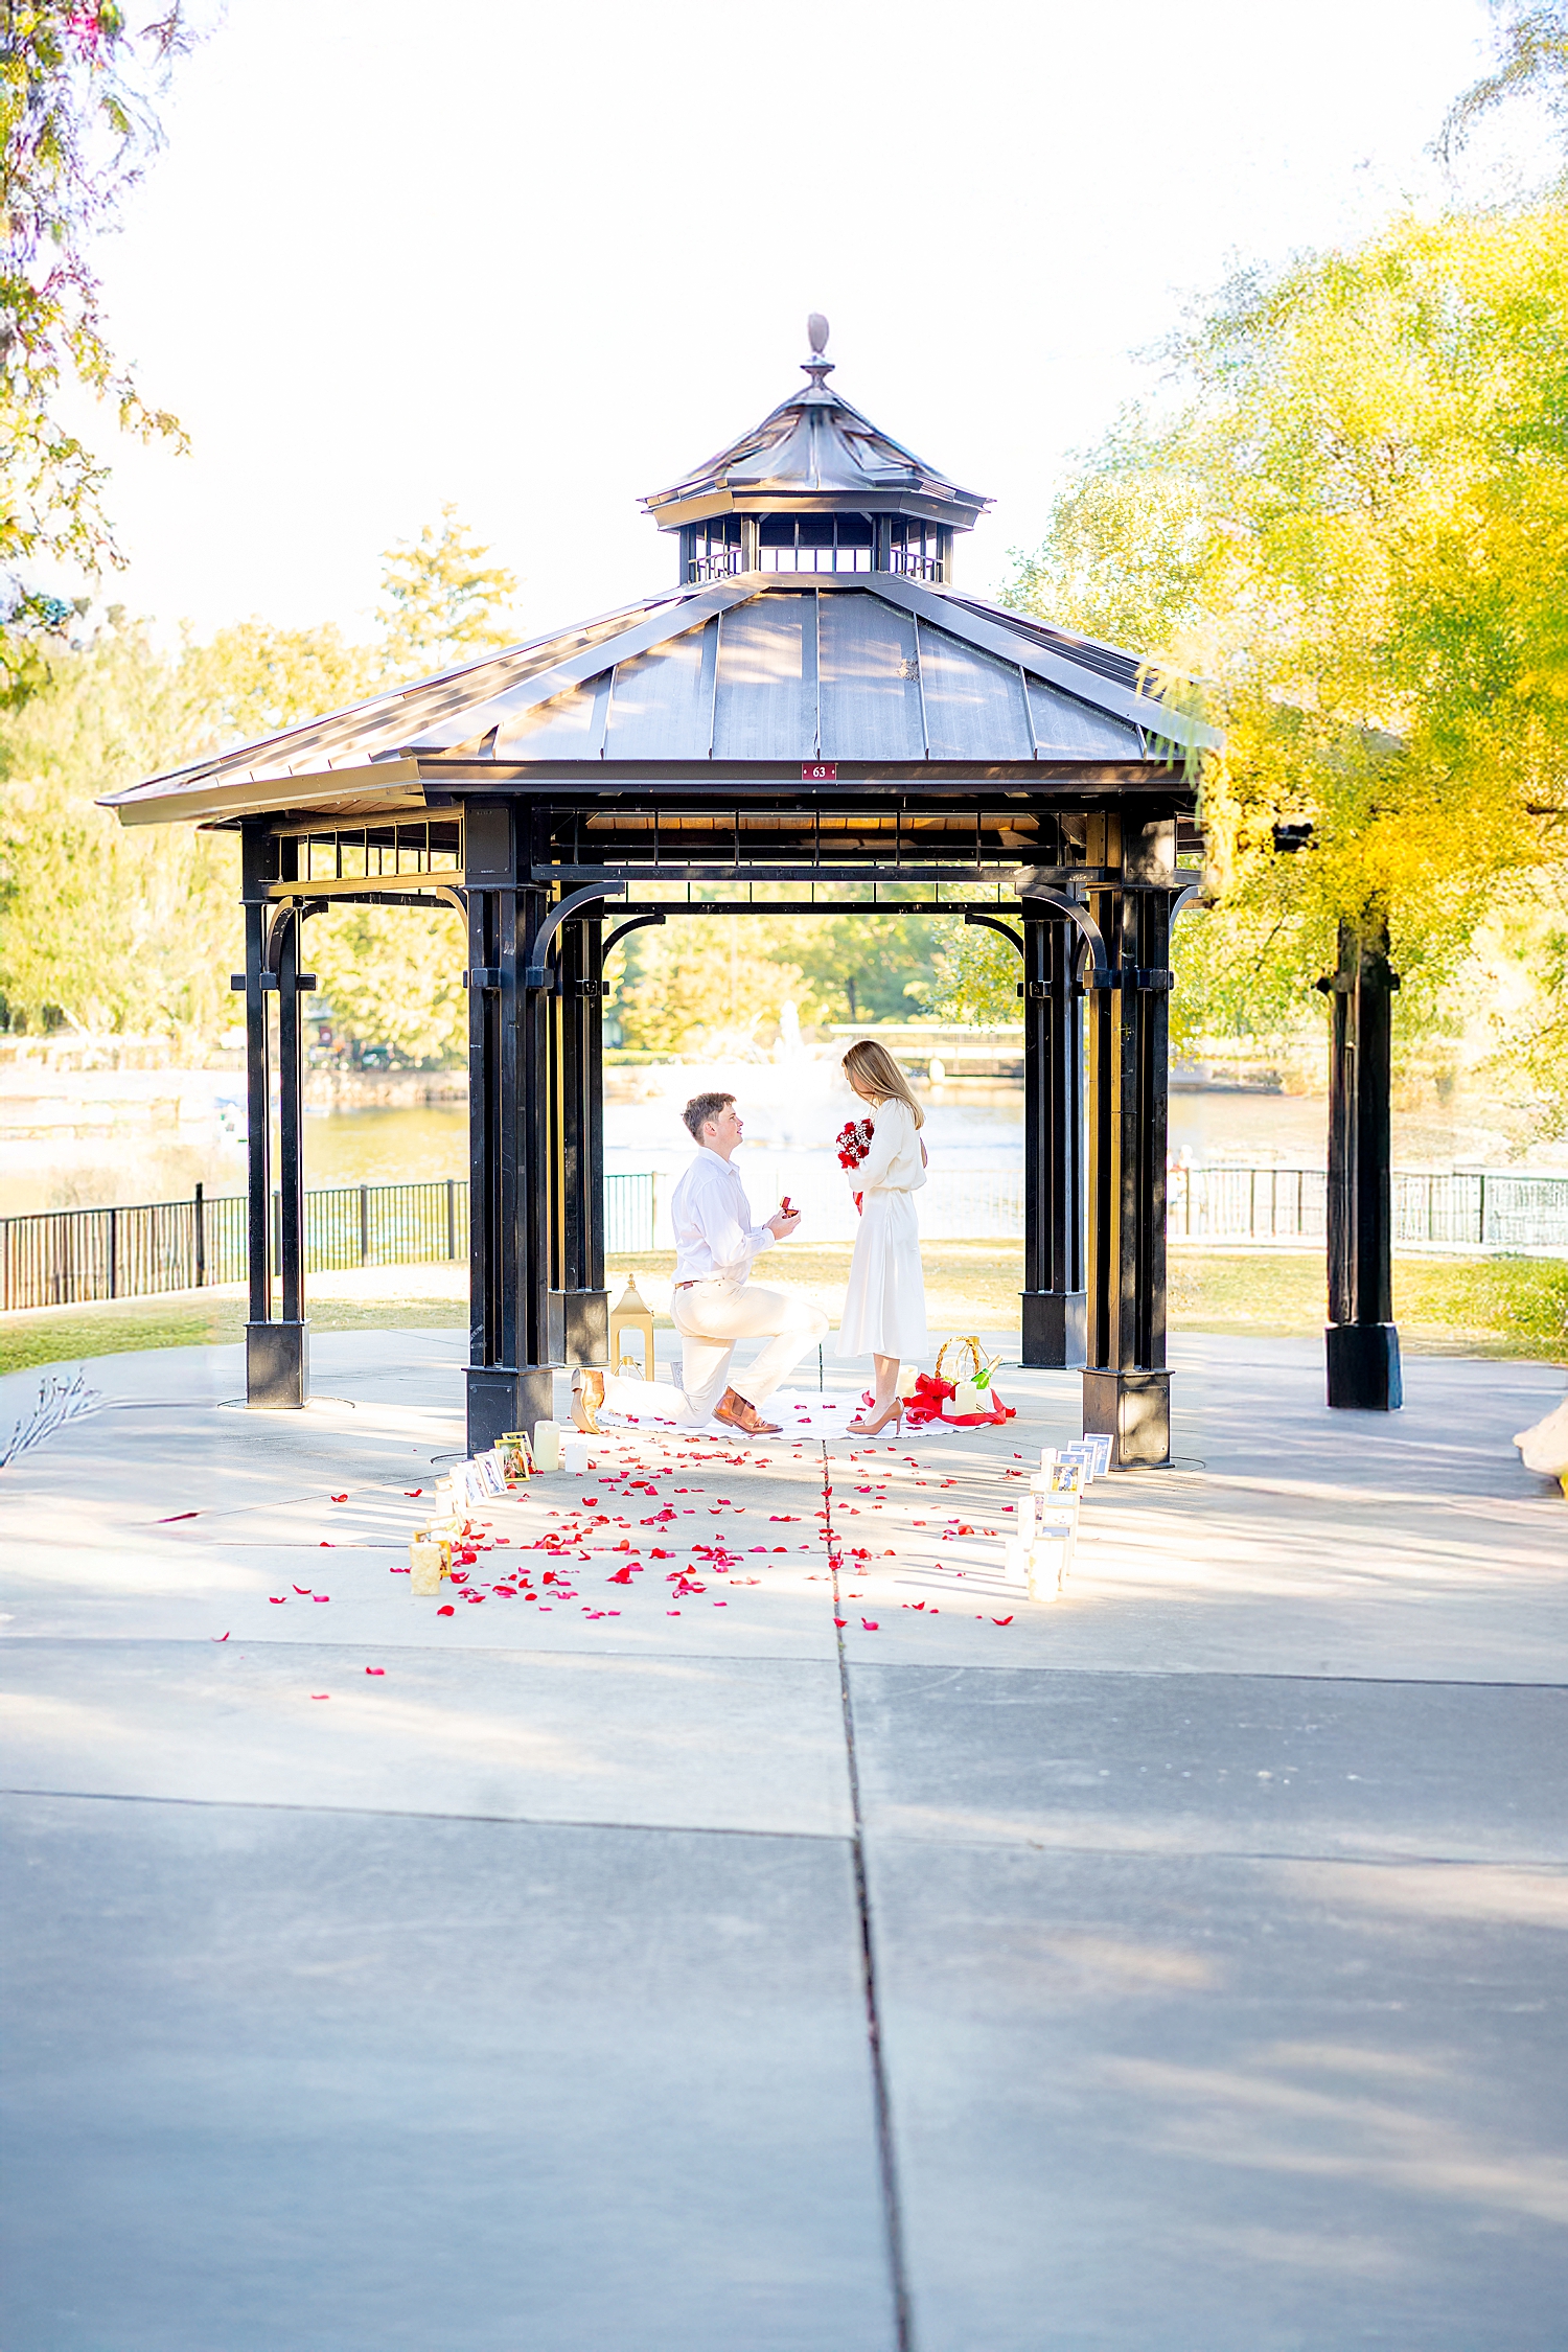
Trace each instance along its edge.
<instances>
[{"instance_id":1,"label":"dark metal railing fence to the left of the kneeling man","mask_svg":"<svg viewBox=\"0 0 1568 2352\"><path fill-rule=\"evenodd\" d=\"M273 1195L273 1265L282 1256ZM139 1202L127 1209L49 1209L0 1218L0 1308L61 1308L92 1298L150 1298L244 1282L244 1195ZM604 1178L604 1247L654 1247L654 1178ZM306 1272L428 1265L468 1256L468 1183L357 1183L306 1192Z\"/></svg>"}]
</instances>

